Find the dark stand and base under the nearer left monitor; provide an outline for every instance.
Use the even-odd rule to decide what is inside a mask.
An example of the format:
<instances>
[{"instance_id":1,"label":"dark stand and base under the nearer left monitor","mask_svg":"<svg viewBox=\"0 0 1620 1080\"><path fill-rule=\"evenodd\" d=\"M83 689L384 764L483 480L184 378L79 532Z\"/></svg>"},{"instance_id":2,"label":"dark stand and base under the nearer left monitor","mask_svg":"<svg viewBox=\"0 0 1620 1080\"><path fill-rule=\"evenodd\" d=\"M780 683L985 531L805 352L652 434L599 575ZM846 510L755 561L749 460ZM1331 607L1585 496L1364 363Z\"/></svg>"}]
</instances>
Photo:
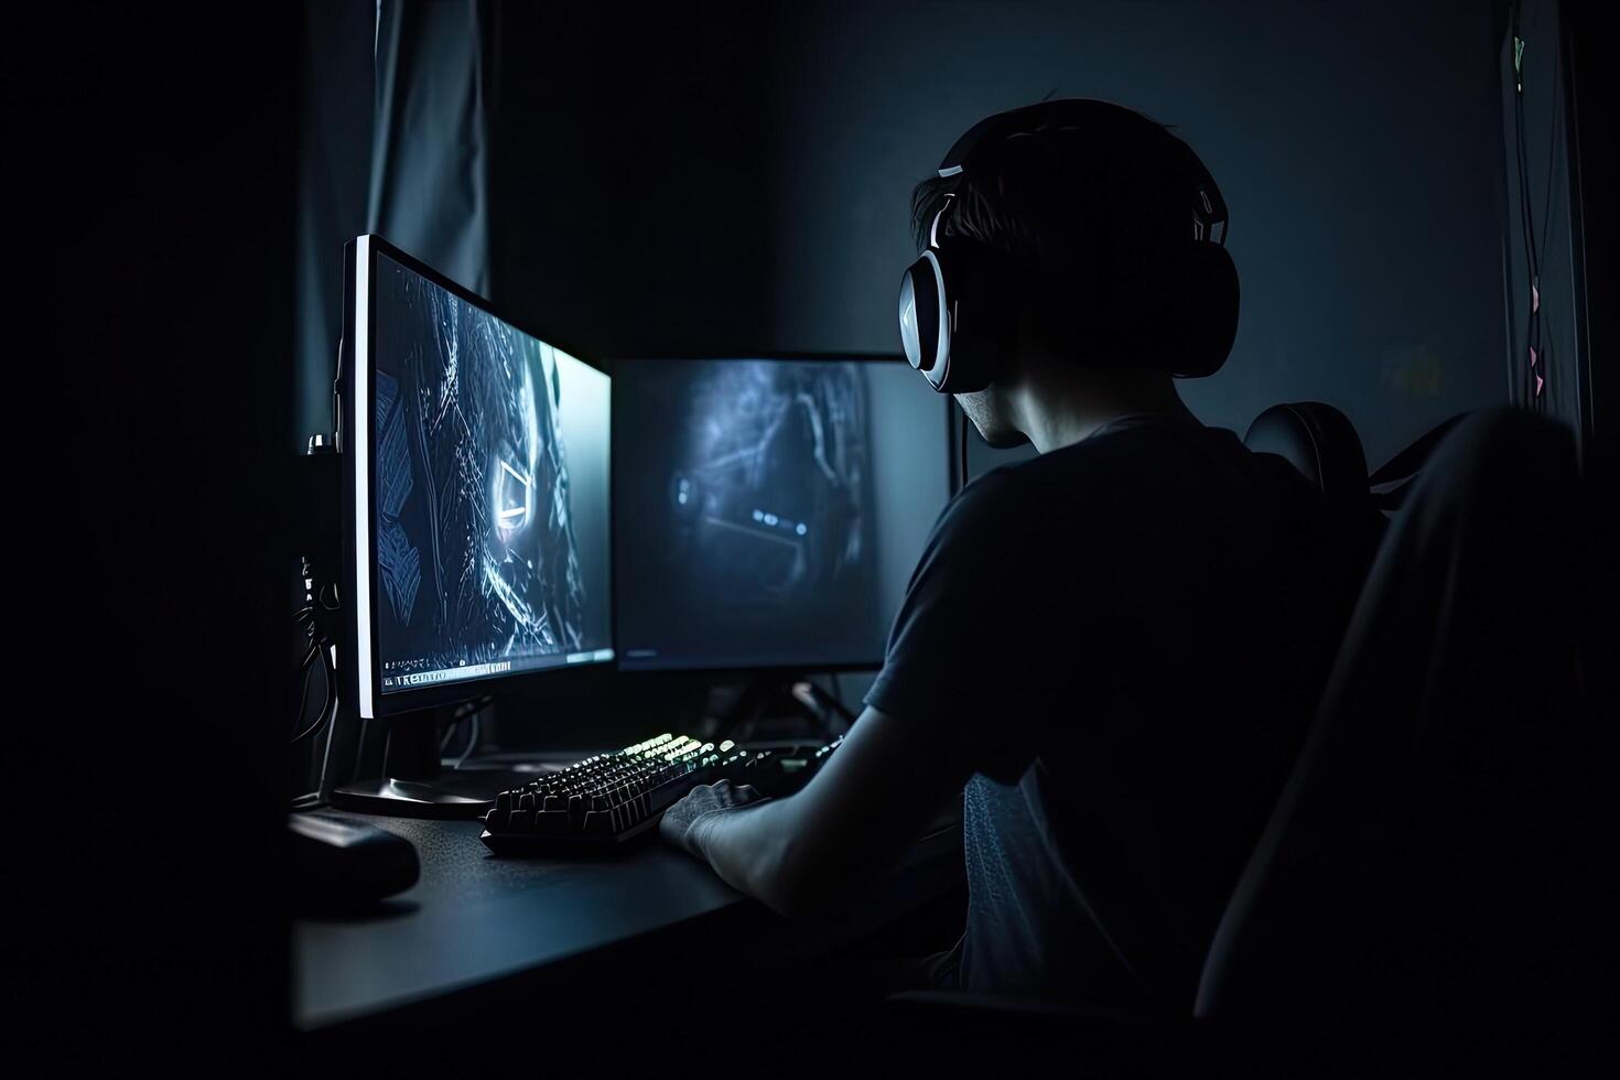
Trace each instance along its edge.
<instances>
[{"instance_id":1,"label":"dark stand and base under the nearer left monitor","mask_svg":"<svg viewBox=\"0 0 1620 1080\"><path fill-rule=\"evenodd\" d=\"M366 759L364 738L381 742L381 777L356 779L330 790L327 801L339 810L392 818L483 818L496 795L535 779L546 766L444 767L439 761L437 714L373 721L361 729L358 759ZM554 766L552 766L554 767Z\"/></svg>"}]
</instances>

